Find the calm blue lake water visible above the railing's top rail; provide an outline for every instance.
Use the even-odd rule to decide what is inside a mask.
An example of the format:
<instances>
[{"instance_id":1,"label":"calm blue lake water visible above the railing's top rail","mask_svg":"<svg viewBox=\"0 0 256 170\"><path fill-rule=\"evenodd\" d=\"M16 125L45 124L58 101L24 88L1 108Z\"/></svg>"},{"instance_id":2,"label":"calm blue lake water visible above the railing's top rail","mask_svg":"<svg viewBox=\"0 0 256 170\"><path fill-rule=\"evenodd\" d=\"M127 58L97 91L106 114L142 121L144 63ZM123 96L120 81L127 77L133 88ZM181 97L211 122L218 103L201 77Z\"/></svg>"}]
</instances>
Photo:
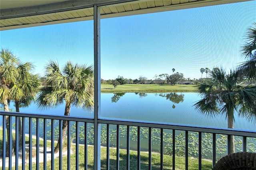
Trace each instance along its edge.
<instances>
[{"instance_id":1,"label":"calm blue lake water visible above the railing's top rail","mask_svg":"<svg viewBox=\"0 0 256 170\"><path fill-rule=\"evenodd\" d=\"M102 119L163 122L208 127L227 127L225 116L208 117L195 110L193 105L200 100L197 93L102 93ZM64 115L65 105L54 109L40 110L35 104L21 108L23 113ZM14 109L11 104L10 108ZM71 108L70 116L93 118L94 113ZM255 130L254 123L235 116L234 128Z\"/></svg>"}]
</instances>

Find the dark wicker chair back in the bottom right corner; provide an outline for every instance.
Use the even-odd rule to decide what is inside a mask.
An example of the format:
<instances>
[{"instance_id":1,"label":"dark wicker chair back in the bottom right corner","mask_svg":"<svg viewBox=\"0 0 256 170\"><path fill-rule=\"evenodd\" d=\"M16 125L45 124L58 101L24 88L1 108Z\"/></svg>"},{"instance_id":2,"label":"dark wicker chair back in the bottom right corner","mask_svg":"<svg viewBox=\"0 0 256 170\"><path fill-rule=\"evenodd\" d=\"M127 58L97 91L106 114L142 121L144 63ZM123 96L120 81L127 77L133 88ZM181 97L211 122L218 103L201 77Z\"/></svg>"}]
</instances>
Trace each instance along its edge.
<instances>
[{"instance_id":1,"label":"dark wicker chair back in the bottom right corner","mask_svg":"<svg viewBox=\"0 0 256 170\"><path fill-rule=\"evenodd\" d=\"M236 152L222 157L212 170L256 170L256 153Z\"/></svg>"}]
</instances>

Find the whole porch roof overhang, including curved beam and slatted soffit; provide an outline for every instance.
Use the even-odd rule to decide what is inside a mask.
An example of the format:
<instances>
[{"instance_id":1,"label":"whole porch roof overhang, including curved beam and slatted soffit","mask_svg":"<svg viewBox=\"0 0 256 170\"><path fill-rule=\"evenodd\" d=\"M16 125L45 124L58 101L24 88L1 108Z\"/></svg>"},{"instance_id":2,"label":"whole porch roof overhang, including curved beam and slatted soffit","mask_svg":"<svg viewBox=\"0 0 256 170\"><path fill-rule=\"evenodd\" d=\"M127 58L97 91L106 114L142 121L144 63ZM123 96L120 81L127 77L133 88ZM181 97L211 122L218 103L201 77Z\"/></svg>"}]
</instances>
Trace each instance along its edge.
<instances>
[{"instance_id":1,"label":"whole porch roof overhang, including curved beam and slatted soffit","mask_svg":"<svg viewBox=\"0 0 256 170\"><path fill-rule=\"evenodd\" d=\"M243 1L247 0L1 0L0 30L92 20L94 4L101 6L101 18L111 18Z\"/></svg>"}]
</instances>

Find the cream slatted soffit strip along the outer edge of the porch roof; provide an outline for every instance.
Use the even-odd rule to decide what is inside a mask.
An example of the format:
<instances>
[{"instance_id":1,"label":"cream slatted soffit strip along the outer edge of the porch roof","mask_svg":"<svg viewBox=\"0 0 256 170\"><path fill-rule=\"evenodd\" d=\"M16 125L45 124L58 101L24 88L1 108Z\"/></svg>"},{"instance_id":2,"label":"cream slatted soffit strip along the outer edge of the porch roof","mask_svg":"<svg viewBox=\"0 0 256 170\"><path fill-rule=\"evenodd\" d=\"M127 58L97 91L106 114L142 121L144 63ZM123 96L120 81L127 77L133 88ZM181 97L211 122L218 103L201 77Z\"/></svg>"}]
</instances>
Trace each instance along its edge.
<instances>
[{"instance_id":1,"label":"cream slatted soffit strip along the outer edge of the porch roof","mask_svg":"<svg viewBox=\"0 0 256 170\"><path fill-rule=\"evenodd\" d=\"M111 0L104 0L104 1L111 2ZM236 2L241 2L241 1L243 0L236 0ZM66 3L66 2L68 4L68 1L63 1L63 3ZM95 1L95 2L102 2L102 1ZM102 18L109 18L109 17L146 14L146 13L152 13L152 12L161 12L161 11L169 11L169 10L177 10L177 9L195 8L200 6L226 4L226 3L233 3L233 2L234 0L138 0L138 1L124 2L122 4L103 5L102 7L100 7L100 14L102 15ZM79 5L83 6L85 3L90 4L92 2L83 1L82 3L82 1L74 1L74 4L78 6ZM179 4L182 4L182 5L179 6ZM59 7L63 7L63 6L59 6ZM43 8L42 6L38 7L38 9L42 9L42 8ZM52 10L53 6L51 7L49 6L49 8L50 8L49 10ZM71 7L67 6L67 8L71 8ZM36 9L36 6L34 7L34 9ZM43 9L48 10L48 8L43 8ZM31 9L28 8L26 12L30 12L30 10ZM2 14L7 14L6 17L7 16L9 17L9 15L12 14L8 12L2 13L2 11L0 12L1 12L0 17L4 16ZM4 19L1 18L0 24L1 24L1 30L8 30L8 29L14 29L14 28L25 28L30 26L49 25L54 23L65 23L65 20L68 20L68 22L72 22L73 19L74 21L92 20L93 14L94 14L93 7L89 6L86 8L77 8L77 9L67 10L67 11L60 10L58 12L50 12L50 13L45 12L43 14L38 14L36 12L36 14L34 15L4 18ZM15 14L13 15L15 16ZM21 26L21 25L24 25L24 26ZM18 26L18 27L15 27L15 26Z\"/></svg>"}]
</instances>

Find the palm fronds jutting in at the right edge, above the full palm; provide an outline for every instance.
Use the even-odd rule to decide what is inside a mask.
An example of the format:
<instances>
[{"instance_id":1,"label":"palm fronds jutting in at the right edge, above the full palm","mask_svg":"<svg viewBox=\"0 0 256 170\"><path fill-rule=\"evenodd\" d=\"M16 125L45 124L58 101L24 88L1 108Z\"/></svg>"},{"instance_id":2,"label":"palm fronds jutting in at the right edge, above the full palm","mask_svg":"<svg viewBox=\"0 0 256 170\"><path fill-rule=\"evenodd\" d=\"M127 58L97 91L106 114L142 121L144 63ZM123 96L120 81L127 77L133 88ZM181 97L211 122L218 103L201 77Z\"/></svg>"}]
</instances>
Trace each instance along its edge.
<instances>
[{"instance_id":1,"label":"palm fronds jutting in at the right edge, above the full palm","mask_svg":"<svg viewBox=\"0 0 256 170\"><path fill-rule=\"evenodd\" d=\"M256 23L247 30L246 43L242 46L242 56L247 59L241 66L249 80L256 80Z\"/></svg>"}]
</instances>

